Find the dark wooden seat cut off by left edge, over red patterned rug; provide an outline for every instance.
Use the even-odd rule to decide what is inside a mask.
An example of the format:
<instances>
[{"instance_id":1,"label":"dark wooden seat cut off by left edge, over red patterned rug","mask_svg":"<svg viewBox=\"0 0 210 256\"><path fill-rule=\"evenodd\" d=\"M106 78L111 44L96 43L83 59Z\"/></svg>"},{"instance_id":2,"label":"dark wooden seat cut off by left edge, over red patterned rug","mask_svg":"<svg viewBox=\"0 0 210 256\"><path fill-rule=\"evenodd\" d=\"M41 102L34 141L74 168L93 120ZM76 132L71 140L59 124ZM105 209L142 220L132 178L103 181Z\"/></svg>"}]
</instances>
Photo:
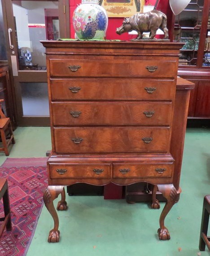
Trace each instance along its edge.
<instances>
[{"instance_id":1,"label":"dark wooden seat cut off by left edge, over red patterned rug","mask_svg":"<svg viewBox=\"0 0 210 256\"><path fill-rule=\"evenodd\" d=\"M3 224L1 225L1 228L0 228L0 238L4 232L5 227L6 227L6 230L12 230L8 183L7 183L7 179L5 178L0 179L0 199L2 198L3 198L3 205L4 205L4 217L0 218L0 221L3 221Z\"/></svg>"}]
</instances>

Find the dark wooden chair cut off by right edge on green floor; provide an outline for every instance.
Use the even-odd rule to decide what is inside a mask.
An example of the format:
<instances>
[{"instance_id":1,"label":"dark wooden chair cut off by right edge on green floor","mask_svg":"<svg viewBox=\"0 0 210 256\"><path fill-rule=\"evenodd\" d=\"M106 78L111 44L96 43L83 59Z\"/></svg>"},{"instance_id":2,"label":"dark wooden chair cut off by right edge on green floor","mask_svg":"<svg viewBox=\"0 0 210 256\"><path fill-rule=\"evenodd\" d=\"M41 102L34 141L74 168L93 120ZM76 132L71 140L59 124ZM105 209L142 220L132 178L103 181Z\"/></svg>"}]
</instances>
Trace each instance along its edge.
<instances>
[{"instance_id":1,"label":"dark wooden chair cut off by right edge on green floor","mask_svg":"<svg viewBox=\"0 0 210 256\"><path fill-rule=\"evenodd\" d=\"M210 251L210 237L207 236L208 226L209 226L209 215L210 215L210 195L206 195L203 200L201 234L200 234L200 242L199 242L200 251L205 251L206 246Z\"/></svg>"}]
</instances>

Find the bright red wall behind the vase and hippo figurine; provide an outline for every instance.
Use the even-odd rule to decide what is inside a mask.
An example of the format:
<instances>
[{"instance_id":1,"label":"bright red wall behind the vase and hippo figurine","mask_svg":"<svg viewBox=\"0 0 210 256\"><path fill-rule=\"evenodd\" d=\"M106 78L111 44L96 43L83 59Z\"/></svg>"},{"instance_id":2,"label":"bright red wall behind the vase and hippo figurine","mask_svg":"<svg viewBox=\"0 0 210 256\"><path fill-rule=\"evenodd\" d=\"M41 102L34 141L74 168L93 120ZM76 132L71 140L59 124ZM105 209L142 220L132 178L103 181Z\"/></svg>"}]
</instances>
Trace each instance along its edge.
<instances>
[{"instance_id":1,"label":"bright red wall behind the vase and hippo figurine","mask_svg":"<svg viewBox=\"0 0 210 256\"><path fill-rule=\"evenodd\" d=\"M160 2L160 3L159 3ZM166 13L168 18L168 27L170 26L171 22L171 16L172 12L169 6L169 0L159 0L157 4L157 10L162 11L163 13ZM78 4L81 3L81 0L69 0L70 3L70 37L74 38L74 27L72 25L72 15L74 12L74 9ZM156 0L145 0L145 5L154 5L156 3ZM135 38L136 35L128 35L128 33L124 33L122 35L117 35L115 33L116 28L122 25L123 18L109 18L108 28L106 32L106 39L107 40L130 40L132 38Z\"/></svg>"}]
</instances>

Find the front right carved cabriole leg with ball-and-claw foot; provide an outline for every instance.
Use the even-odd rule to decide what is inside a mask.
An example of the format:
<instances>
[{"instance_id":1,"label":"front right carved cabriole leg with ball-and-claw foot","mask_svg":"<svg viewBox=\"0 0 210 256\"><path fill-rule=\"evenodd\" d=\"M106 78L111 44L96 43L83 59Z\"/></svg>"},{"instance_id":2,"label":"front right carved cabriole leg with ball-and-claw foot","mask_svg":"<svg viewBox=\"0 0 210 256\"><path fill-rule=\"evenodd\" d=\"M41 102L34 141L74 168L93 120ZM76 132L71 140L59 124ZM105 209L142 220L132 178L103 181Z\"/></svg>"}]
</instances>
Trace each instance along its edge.
<instances>
[{"instance_id":1,"label":"front right carved cabriole leg with ball-and-claw foot","mask_svg":"<svg viewBox=\"0 0 210 256\"><path fill-rule=\"evenodd\" d=\"M166 215L169 213L172 206L175 204L175 201L177 198L177 191L173 184L157 185L157 187L158 187L158 190L162 193L162 195L167 200L165 207L163 208L160 216L160 228L157 230L157 233L160 240L169 240L170 234L166 226L164 225L164 221L165 221Z\"/></svg>"}]
</instances>

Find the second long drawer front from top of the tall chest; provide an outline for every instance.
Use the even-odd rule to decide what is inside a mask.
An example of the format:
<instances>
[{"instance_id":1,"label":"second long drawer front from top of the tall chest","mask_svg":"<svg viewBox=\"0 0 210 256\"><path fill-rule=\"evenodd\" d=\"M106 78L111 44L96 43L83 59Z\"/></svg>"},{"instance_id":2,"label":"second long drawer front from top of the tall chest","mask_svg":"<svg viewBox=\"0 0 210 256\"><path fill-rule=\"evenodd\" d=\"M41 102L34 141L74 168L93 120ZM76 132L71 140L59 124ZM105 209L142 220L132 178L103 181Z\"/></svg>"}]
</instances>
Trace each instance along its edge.
<instances>
[{"instance_id":1,"label":"second long drawer front from top of the tall chest","mask_svg":"<svg viewBox=\"0 0 210 256\"><path fill-rule=\"evenodd\" d=\"M174 79L50 79L52 100L173 99Z\"/></svg>"}]
</instances>

